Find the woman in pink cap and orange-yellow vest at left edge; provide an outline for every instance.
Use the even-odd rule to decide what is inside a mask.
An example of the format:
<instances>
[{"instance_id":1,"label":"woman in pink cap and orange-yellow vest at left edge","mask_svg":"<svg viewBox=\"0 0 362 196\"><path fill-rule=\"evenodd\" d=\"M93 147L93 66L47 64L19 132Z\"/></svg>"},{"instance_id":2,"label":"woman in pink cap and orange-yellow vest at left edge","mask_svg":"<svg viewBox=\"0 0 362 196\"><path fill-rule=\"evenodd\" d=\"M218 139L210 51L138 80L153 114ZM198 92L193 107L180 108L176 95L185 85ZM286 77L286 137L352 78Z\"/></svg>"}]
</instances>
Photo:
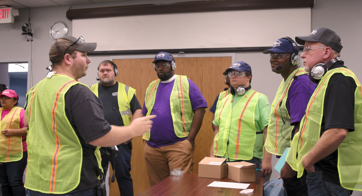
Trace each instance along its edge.
<instances>
[{"instance_id":1,"label":"woman in pink cap and orange-yellow vest at left edge","mask_svg":"<svg viewBox=\"0 0 362 196\"><path fill-rule=\"evenodd\" d=\"M0 94L0 184L3 195L25 196L22 181L28 152L24 108L18 107L19 97L13 90Z\"/></svg>"}]
</instances>

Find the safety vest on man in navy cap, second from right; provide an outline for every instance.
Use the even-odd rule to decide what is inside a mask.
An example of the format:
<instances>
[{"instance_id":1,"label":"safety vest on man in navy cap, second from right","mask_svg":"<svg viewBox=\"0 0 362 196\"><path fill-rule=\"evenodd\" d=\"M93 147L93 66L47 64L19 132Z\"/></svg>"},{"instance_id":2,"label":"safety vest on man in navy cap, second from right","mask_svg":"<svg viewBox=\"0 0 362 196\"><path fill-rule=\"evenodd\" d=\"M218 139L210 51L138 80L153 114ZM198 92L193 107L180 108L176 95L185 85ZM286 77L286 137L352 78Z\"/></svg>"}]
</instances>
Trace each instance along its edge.
<instances>
[{"instance_id":1,"label":"safety vest on man in navy cap, second from right","mask_svg":"<svg viewBox=\"0 0 362 196\"><path fill-rule=\"evenodd\" d=\"M294 80L293 76L305 73L307 72L302 68L298 68L285 81L283 79L279 85L277 95L275 95L274 101L271 104L268 137L265 141L265 149L269 153L281 156L285 149L290 147L294 126L290 125L290 115L287 112L286 100L288 99L289 88Z\"/></svg>"}]
</instances>

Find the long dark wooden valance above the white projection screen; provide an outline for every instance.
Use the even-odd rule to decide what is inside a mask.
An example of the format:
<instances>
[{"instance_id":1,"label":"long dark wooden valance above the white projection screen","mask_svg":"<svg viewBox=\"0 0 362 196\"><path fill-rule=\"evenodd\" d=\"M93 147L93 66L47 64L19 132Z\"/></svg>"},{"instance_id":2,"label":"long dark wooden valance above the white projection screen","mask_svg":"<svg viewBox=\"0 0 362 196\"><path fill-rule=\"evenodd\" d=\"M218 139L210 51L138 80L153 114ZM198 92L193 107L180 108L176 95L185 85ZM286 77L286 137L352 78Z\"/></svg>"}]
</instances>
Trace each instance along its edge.
<instances>
[{"instance_id":1,"label":"long dark wooden valance above the white projection screen","mask_svg":"<svg viewBox=\"0 0 362 196\"><path fill-rule=\"evenodd\" d=\"M167 5L143 4L89 9L71 9L68 19L171 14L188 12L213 12L226 10L306 8L313 7L314 0L219 0L189 1Z\"/></svg>"}]
</instances>

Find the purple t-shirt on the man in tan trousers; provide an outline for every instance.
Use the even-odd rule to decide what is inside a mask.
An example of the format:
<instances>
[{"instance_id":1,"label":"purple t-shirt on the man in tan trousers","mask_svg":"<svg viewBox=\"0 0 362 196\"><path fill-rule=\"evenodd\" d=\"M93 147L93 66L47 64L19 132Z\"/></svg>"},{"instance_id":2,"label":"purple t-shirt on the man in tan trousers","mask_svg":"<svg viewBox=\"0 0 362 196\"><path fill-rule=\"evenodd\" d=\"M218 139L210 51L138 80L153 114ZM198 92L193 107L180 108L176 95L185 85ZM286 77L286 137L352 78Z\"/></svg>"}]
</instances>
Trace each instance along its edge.
<instances>
[{"instance_id":1,"label":"purple t-shirt on the man in tan trousers","mask_svg":"<svg viewBox=\"0 0 362 196\"><path fill-rule=\"evenodd\" d=\"M152 119L153 124L151 128L150 140L147 144L152 148L158 148L166 145L172 145L178 141L185 140L185 138L179 138L175 134L173 129L173 121L171 116L170 96L175 80L168 83L161 83L157 87L155 104L151 115L157 115L156 118ZM201 91L194 82L190 79L189 81L189 96L192 106L192 110L195 111L197 108L207 108L205 98L202 96ZM143 103L142 114L147 114L146 105ZM186 127L185 127L186 128ZM187 129L187 128L186 128ZM191 127L188 127L191 129Z\"/></svg>"}]
</instances>

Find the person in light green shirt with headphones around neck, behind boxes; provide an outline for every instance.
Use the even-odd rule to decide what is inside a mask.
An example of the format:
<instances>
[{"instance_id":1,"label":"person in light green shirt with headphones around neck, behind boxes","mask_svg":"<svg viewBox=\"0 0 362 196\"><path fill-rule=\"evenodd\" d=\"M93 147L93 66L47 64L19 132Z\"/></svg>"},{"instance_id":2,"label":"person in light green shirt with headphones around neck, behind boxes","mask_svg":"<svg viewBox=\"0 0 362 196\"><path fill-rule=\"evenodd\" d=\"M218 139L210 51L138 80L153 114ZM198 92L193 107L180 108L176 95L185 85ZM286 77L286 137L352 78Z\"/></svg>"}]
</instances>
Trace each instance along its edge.
<instances>
[{"instance_id":1,"label":"person in light green shirt with headphones around neck, behind boxes","mask_svg":"<svg viewBox=\"0 0 362 196\"><path fill-rule=\"evenodd\" d=\"M268 97L251 90L252 72L246 62L236 62L225 72L231 94L217 106L210 157L253 163L266 177L271 173L271 154L263 149L270 116Z\"/></svg>"}]
</instances>

